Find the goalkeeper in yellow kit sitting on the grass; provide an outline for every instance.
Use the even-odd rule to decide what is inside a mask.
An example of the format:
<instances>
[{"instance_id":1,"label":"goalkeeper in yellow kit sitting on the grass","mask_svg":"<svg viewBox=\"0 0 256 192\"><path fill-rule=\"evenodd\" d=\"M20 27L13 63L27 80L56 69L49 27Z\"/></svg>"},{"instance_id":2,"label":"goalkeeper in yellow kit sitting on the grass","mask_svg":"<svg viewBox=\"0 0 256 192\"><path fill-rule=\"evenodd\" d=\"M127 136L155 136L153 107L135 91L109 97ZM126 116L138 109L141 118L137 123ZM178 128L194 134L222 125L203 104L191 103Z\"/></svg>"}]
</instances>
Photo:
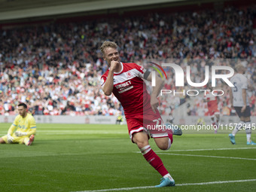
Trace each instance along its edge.
<instances>
[{"instance_id":1,"label":"goalkeeper in yellow kit sitting on the grass","mask_svg":"<svg viewBox=\"0 0 256 192\"><path fill-rule=\"evenodd\" d=\"M19 143L31 145L35 138L35 118L28 113L27 105L18 105L19 114L15 117L14 123L8 130L8 134L0 138L0 143ZM17 130L16 130L17 129ZM14 132L16 130L16 132Z\"/></svg>"}]
</instances>

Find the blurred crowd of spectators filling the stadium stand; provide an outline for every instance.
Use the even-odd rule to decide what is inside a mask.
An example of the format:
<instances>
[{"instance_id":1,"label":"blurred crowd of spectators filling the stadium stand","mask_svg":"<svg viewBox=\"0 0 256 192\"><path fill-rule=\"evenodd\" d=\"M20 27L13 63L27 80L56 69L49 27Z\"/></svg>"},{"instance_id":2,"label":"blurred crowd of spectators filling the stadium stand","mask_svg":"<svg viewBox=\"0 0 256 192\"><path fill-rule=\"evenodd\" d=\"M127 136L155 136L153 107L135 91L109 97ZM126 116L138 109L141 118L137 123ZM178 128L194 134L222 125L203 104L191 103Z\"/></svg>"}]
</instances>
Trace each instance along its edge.
<instances>
[{"instance_id":1,"label":"blurred crowd of spectators filling the stadium stand","mask_svg":"<svg viewBox=\"0 0 256 192\"><path fill-rule=\"evenodd\" d=\"M104 96L100 87L108 66L99 47L110 40L120 45L121 61L145 67L148 61L175 62L184 72L190 66L193 82L204 80L206 65L242 62L251 85L251 113L256 115L255 15L254 5L0 29L0 114L14 114L18 102L28 103L34 114L119 114L117 99ZM177 90L174 72L166 69L166 75L165 89ZM221 82L218 87L228 90ZM188 97L165 96L161 114ZM220 99L222 114L233 114L228 91ZM187 114L198 115L204 107L197 98Z\"/></svg>"}]
</instances>

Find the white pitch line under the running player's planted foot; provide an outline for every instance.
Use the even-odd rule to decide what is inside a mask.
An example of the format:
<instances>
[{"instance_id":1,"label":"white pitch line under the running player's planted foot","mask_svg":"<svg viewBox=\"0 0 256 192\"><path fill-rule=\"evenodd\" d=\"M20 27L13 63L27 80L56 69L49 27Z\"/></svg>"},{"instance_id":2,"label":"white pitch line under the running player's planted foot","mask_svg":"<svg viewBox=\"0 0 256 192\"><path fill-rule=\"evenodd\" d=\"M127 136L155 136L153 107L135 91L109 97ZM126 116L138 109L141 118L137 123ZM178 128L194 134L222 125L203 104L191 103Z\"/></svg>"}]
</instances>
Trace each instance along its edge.
<instances>
[{"instance_id":1,"label":"white pitch line under the running player's planted foot","mask_svg":"<svg viewBox=\"0 0 256 192\"><path fill-rule=\"evenodd\" d=\"M187 186L187 185L206 185L206 184L225 184L225 183L237 183L237 182L249 182L256 181L256 179L245 179L245 180L236 180L236 181L210 181L203 183L184 183L184 184L175 184L175 186ZM81 190L77 192L104 192L104 191L120 191L120 190L136 190L136 189L149 189L155 188L154 186L144 186L144 187L123 187L123 188L112 188L112 189L100 189L100 190Z\"/></svg>"}]
</instances>

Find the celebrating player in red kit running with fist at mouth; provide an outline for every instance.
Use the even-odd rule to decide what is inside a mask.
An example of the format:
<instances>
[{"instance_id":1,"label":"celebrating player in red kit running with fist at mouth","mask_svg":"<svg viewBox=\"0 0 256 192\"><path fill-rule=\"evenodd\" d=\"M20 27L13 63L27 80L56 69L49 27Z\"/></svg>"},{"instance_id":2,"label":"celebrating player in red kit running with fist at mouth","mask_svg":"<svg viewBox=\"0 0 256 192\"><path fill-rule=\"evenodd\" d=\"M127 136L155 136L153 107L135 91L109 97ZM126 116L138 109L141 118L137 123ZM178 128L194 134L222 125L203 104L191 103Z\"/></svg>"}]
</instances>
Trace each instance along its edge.
<instances>
[{"instance_id":1,"label":"celebrating player in red kit running with fist at mouth","mask_svg":"<svg viewBox=\"0 0 256 192\"><path fill-rule=\"evenodd\" d=\"M150 96L142 78L152 81L151 72L136 63L120 62L117 44L113 41L103 42L101 52L109 66L101 78L103 92L106 96L114 93L120 101L131 141L136 143L145 160L163 176L161 183L156 187L174 186L175 181L172 176L148 143L149 136L151 136L157 147L162 150L169 149L172 144L171 132L148 128L163 125L163 120L157 110L159 104L157 96L163 86L163 81L156 77L156 86L153 87Z\"/></svg>"}]
</instances>

